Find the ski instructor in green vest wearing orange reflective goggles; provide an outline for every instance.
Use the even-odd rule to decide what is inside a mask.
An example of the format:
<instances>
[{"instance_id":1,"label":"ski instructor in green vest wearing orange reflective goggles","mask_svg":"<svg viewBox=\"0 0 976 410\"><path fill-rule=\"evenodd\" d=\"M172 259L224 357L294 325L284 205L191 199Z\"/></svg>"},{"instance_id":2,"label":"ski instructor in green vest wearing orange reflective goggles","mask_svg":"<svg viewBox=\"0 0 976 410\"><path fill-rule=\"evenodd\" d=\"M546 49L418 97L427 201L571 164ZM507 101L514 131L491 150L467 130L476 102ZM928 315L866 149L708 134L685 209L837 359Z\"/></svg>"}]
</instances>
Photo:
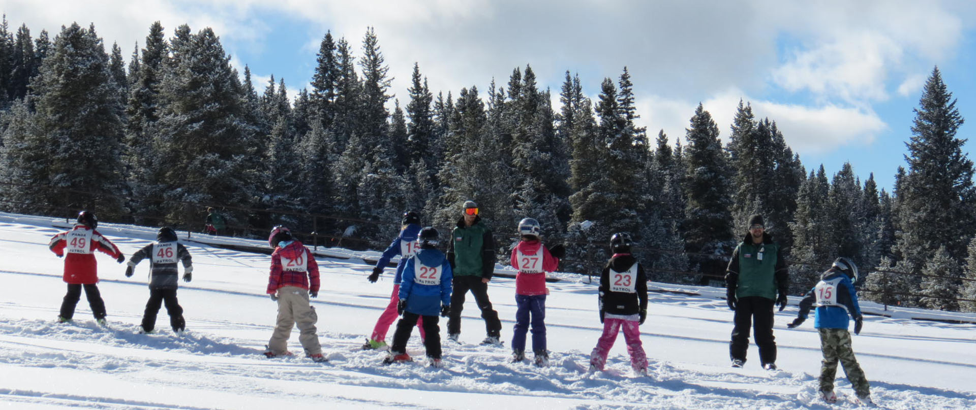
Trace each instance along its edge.
<instances>
[{"instance_id":1,"label":"ski instructor in green vest wearing orange reflective goggles","mask_svg":"<svg viewBox=\"0 0 976 410\"><path fill-rule=\"evenodd\" d=\"M481 318L485 319L488 333L481 344L500 345L502 322L488 300L488 281L495 273L495 240L491 229L478 216L478 205L466 201L464 209L458 226L451 231L451 244L447 250L447 260L454 272L447 337L455 342L461 337L461 311L465 309L465 295L470 290L481 310Z\"/></svg>"}]
</instances>

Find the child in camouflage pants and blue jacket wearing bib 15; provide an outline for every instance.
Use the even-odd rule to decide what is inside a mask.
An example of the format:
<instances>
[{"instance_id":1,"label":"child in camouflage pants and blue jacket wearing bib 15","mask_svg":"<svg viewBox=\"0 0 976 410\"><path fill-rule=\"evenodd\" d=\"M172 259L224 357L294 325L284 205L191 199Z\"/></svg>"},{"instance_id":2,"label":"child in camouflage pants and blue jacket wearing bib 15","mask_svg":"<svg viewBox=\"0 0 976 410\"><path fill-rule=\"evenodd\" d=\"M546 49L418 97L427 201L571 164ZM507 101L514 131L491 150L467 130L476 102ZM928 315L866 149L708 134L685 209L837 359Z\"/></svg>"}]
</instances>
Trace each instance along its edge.
<instances>
[{"instance_id":1,"label":"child in camouflage pants and blue jacket wearing bib 15","mask_svg":"<svg viewBox=\"0 0 976 410\"><path fill-rule=\"evenodd\" d=\"M839 360L858 399L868 405L874 404L868 379L854 357L851 334L847 331L850 324L848 316L854 318L854 334L861 333L863 323L861 306L857 302L857 291L854 289L857 279L857 265L854 261L845 257L837 258L831 269L820 277L820 281L799 302L799 314L787 325L791 329L799 326L806 320L814 302L817 303L813 327L820 333L820 350L824 354L820 367L820 396L829 403L837 401L834 375Z\"/></svg>"}]
</instances>

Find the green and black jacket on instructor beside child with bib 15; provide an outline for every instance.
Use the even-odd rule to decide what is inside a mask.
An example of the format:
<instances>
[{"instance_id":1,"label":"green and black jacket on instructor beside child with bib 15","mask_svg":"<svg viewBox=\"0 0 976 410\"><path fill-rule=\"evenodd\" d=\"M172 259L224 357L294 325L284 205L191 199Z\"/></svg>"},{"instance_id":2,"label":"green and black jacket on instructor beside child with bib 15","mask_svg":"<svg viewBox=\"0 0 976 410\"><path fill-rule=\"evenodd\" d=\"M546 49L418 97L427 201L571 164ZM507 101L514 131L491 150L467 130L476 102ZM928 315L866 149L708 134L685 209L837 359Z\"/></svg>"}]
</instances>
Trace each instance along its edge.
<instances>
[{"instance_id":1,"label":"green and black jacket on instructor beside child with bib 15","mask_svg":"<svg viewBox=\"0 0 976 410\"><path fill-rule=\"evenodd\" d=\"M762 234L762 243L746 238L736 246L725 270L725 285L735 291L736 298L760 296L776 300L776 292L787 294L790 280L787 263L780 255L780 245L769 234Z\"/></svg>"}]
</instances>

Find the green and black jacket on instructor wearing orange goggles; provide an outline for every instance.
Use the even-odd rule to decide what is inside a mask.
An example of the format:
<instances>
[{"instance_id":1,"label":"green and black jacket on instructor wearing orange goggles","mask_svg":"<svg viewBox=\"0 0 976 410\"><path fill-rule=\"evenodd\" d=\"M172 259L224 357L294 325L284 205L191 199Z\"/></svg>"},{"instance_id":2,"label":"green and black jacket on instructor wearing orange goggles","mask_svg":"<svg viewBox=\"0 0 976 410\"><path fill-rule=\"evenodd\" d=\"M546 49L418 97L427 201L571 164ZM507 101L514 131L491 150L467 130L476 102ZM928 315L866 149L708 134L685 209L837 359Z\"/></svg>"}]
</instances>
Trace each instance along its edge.
<instances>
[{"instance_id":1,"label":"green and black jacket on instructor wearing orange goggles","mask_svg":"<svg viewBox=\"0 0 976 410\"><path fill-rule=\"evenodd\" d=\"M465 218L451 231L451 244L447 250L454 277L481 277L491 279L495 273L495 240L491 229L474 218L471 226L465 226Z\"/></svg>"}]
</instances>

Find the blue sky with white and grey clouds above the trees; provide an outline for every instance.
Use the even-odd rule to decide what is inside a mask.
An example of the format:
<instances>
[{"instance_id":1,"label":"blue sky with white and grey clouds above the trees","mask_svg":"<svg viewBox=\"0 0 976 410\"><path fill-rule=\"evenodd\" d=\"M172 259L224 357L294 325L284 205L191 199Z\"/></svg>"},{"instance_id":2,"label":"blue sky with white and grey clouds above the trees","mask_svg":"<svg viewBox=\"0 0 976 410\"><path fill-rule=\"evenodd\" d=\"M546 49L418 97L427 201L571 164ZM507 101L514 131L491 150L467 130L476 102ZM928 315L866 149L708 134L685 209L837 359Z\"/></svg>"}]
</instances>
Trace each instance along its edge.
<instances>
[{"instance_id":1,"label":"blue sky with white and grey clouds above the trees","mask_svg":"<svg viewBox=\"0 0 976 410\"><path fill-rule=\"evenodd\" d=\"M307 87L326 30L360 52L375 27L391 93L406 103L414 62L436 93L508 81L531 64L557 93L566 70L595 97L626 65L642 125L672 140L699 102L727 135L739 99L776 121L807 170L850 162L890 190L904 165L921 86L938 65L963 118L976 121L976 6L961 1L773 0L220 0L150 2L0 0L12 26L36 35L94 22L124 55L160 20L172 34L211 26L232 63L248 64L260 90L284 77ZM557 102L557 101L556 101ZM392 100L389 103L392 107ZM959 136L968 138L971 125ZM966 152L973 147L967 143Z\"/></svg>"}]
</instances>

